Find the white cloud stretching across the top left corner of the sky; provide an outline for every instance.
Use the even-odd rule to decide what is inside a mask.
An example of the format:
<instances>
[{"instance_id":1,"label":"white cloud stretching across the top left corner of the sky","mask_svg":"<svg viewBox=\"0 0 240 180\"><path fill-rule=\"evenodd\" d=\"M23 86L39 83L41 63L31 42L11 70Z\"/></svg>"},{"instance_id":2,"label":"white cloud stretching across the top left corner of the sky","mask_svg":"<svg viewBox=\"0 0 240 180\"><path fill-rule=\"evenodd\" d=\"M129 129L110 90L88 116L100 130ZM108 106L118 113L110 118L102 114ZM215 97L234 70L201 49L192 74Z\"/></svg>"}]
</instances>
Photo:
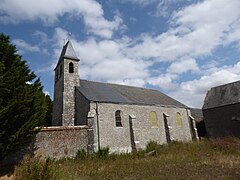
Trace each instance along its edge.
<instances>
[{"instance_id":1,"label":"white cloud stretching across the top left corner of the sky","mask_svg":"<svg viewBox=\"0 0 240 180\"><path fill-rule=\"evenodd\" d=\"M63 15L83 17L88 33L105 38L111 38L122 24L119 15L115 15L112 21L105 19L102 6L95 0L4 0L0 13L0 22L3 23L41 20L49 25Z\"/></svg>"}]
</instances>

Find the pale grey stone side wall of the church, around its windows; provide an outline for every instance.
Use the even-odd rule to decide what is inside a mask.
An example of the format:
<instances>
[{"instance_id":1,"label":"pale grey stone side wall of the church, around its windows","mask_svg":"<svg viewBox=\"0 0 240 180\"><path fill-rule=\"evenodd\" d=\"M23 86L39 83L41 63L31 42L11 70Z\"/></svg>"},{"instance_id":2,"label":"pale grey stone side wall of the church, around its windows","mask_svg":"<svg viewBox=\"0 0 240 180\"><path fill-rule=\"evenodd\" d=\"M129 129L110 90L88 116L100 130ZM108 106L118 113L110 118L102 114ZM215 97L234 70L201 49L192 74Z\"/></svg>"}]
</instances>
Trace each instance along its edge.
<instances>
[{"instance_id":1,"label":"pale grey stone side wall of the church, around its windows","mask_svg":"<svg viewBox=\"0 0 240 180\"><path fill-rule=\"evenodd\" d=\"M96 108L96 103L91 103L91 108ZM116 127L115 112L117 110L121 110L123 113L123 127ZM152 127L151 111L156 112L157 127ZM178 127L176 122L177 112L182 117L181 127ZM171 140L190 141L189 120L187 111L184 108L98 103L100 146L108 146L110 152L131 152L130 117L132 118L134 143L137 149L146 148L149 141L155 141L159 144L166 143L163 113L169 115L167 119ZM97 145L97 139L96 135L95 146Z\"/></svg>"}]
</instances>

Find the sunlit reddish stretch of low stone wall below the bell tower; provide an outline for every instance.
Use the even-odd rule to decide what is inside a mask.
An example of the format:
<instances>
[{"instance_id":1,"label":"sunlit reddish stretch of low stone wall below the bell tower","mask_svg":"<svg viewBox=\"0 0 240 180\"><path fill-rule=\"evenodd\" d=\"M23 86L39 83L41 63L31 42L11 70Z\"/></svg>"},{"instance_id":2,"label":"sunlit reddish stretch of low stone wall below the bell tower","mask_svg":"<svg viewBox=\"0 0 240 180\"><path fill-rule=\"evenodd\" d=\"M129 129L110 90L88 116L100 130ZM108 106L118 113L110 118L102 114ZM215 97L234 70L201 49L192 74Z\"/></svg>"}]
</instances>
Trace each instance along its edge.
<instances>
[{"instance_id":1,"label":"sunlit reddish stretch of low stone wall below the bell tower","mask_svg":"<svg viewBox=\"0 0 240 180\"><path fill-rule=\"evenodd\" d=\"M87 151L87 126L44 127L36 135L34 156L41 158L75 157L80 149Z\"/></svg>"}]
</instances>

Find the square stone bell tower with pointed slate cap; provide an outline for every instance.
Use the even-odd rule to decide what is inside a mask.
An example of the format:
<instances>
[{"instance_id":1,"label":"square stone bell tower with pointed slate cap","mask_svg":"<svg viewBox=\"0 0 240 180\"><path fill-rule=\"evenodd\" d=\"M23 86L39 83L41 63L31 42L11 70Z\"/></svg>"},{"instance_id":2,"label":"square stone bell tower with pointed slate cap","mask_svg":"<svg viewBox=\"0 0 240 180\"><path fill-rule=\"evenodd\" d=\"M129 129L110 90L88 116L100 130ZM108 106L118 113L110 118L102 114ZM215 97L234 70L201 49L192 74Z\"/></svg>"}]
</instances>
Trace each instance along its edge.
<instances>
[{"instance_id":1,"label":"square stone bell tower with pointed slate cap","mask_svg":"<svg viewBox=\"0 0 240 180\"><path fill-rule=\"evenodd\" d=\"M72 43L67 41L54 69L53 126L74 126L75 87L80 86L79 61Z\"/></svg>"}]
</instances>

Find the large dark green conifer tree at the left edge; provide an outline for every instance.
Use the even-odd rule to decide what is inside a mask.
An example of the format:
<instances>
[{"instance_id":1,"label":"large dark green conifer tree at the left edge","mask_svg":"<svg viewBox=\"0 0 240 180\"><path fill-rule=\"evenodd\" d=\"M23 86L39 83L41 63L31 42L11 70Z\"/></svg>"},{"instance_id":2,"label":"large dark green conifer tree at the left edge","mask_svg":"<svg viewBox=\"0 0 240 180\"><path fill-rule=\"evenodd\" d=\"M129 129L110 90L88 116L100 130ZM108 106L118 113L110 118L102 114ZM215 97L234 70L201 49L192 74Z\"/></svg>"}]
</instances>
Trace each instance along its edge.
<instances>
[{"instance_id":1,"label":"large dark green conifer tree at the left edge","mask_svg":"<svg viewBox=\"0 0 240 180\"><path fill-rule=\"evenodd\" d=\"M40 80L9 39L0 34L0 160L34 137L48 106Z\"/></svg>"}]
</instances>

